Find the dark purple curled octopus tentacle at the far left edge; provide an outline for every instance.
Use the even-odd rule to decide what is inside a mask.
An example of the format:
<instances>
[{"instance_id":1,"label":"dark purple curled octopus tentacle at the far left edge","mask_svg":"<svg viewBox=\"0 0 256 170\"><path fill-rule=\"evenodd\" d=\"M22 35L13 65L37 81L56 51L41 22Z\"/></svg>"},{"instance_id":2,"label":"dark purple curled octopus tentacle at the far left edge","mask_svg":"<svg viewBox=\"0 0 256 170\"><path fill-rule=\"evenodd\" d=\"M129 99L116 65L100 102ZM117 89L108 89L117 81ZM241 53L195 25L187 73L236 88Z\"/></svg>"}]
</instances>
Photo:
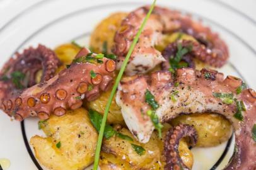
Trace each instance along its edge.
<instances>
[{"instance_id":1,"label":"dark purple curled octopus tentacle at the far left edge","mask_svg":"<svg viewBox=\"0 0 256 170\"><path fill-rule=\"evenodd\" d=\"M44 45L38 45L37 48L30 47L25 49L22 54L16 53L14 57L4 64L0 71L0 103L8 99L12 93L21 93L23 88L29 88L36 84L36 73L42 70L41 82L48 81L54 76L60 61L50 48ZM12 75L16 73L23 76L16 84L13 83ZM18 86L17 86L18 85ZM22 99L17 98L15 101L8 100L6 108L10 109L12 105L21 105Z\"/></svg>"}]
</instances>

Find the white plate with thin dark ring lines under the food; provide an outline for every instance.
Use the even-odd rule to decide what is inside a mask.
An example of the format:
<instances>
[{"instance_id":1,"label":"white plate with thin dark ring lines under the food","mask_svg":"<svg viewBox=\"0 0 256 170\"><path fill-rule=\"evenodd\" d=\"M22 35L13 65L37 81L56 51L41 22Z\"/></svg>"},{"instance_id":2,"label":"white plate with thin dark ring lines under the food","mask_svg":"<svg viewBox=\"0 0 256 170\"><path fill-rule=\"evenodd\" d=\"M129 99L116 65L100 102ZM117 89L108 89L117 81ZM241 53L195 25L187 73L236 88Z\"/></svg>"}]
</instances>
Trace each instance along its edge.
<instances>
[{"instance_id":1,"label":"white plate with thin dark ring lines under the food","mask_svg":"<svg viewBox=\"0 0 256 170\"><path fill-rule=\"evenodd\" d=\"M108 0L88 3L84 0L44 0L13 6L13 9L19 9L16 15L8 11L9 15L6 16L13 17L7 17L4 24L0 22L0 66L16 50L38 43L54 48L61 43L78 40L87 45L91 30L102 18L115 11L131 11L146 3L151 1ZM231 56L220 71L241 77L248 86L256 89L255 21L218 1L161 0L158 5L190 13L217 31L228 43ZM38 130L37 121L37 118L28 118L23 123L11 122L4 113L0 114L0 158L11 161L10 170L45 169L38 164L28 144L33 135L44 135ZM233 146L234 139L230 139L218 147L192 149L195 160L193 169L222 169L233 153Z\"/></svg>"}]
</instances>

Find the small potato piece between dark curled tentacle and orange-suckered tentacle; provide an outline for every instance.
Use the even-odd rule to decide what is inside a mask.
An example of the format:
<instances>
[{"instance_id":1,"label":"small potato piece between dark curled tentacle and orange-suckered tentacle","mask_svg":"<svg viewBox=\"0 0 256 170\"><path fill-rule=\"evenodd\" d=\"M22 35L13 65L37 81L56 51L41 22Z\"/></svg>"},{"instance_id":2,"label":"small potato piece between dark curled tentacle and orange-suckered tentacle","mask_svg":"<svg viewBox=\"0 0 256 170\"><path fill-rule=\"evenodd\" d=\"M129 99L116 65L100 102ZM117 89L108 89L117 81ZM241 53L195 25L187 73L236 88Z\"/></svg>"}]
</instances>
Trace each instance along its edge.
<instances>
[{"instance_id":1,"label":"small potato piece between dark curled tentacle and orange-suckered tentacle","mask_svg":"<svg viewBox=\"0 0 256 170\"><path fill-rule=\"evenodd\" d=\"M72 43L64 43L54 49L55 54L61 60L62 64L71 64L72 60L78 54L80 48Z\"/></svg>"}]
</instances>

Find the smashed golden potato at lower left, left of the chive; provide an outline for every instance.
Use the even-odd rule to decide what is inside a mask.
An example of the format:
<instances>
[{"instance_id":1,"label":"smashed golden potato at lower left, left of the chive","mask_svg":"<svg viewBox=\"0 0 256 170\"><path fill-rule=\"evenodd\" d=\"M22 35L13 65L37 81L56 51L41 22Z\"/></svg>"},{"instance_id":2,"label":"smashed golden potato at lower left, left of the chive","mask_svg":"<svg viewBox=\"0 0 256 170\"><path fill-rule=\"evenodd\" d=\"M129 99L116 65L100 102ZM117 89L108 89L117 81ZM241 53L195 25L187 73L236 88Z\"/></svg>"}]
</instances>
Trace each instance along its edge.
<instances>
[{"instance_id":1,"label":"smashed golden potato at lower left, left of the chive","mask_svg":"<svg viewBox=\"0 0 256 170\"><path fill-rule=\"evenodd\" d=\"M98 133L84 108L69 110L59 117L52 115L41 127L47 137L32 137L30 144L45 167L78 170L93 162ZM61 147L57 148L59 142Z\"/></svg>"}]
</instances>

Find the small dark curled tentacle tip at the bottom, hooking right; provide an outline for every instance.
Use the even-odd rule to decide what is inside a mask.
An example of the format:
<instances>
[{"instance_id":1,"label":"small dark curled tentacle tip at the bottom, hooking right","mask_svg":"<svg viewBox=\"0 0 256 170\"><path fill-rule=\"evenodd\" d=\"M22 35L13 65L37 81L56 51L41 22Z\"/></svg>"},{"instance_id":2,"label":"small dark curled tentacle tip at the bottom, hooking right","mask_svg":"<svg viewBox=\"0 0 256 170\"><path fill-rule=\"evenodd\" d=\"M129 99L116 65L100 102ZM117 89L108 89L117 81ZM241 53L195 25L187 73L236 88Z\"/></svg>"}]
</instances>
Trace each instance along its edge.
<instances>
[{"instance_id":1,"label":"small dark curled tentacle tip at the bottom, hooking right","mask_svg":"<svg viewBox=\"0 0 256 170\"><path fill-rule=\"evenodd\" d=\"M190 125L177 125L166 133L164 149L166 170L189 170L189 167L185 166L178 154L178 145L183 137L189 137L190 145L194 146L197 142L197 132L195 128Z\"/></svg>"}]
</instances>

